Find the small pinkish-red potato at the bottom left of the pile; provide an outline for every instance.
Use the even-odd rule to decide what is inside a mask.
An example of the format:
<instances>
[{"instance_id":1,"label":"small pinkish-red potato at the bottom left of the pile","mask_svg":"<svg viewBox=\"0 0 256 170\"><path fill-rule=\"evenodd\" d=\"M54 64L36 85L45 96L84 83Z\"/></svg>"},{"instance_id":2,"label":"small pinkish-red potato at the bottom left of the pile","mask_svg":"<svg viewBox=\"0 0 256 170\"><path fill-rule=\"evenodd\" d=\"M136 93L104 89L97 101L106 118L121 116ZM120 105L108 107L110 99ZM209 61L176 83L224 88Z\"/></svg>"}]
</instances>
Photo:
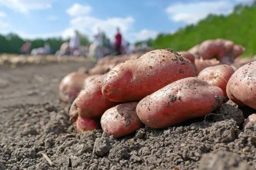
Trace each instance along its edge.
<instances>
[{"instance_id":1,"label":"small pinkish-red potato at the bottom left of the pile","mask_svg":"<svg viewBox=\"0 0 256 170\"><path fill-rule=\"evenodd\" d=\"M96 119L81 116L78 116L75 125L78 132L92 131L100 127Z\"/></svg>"}]
</instances>

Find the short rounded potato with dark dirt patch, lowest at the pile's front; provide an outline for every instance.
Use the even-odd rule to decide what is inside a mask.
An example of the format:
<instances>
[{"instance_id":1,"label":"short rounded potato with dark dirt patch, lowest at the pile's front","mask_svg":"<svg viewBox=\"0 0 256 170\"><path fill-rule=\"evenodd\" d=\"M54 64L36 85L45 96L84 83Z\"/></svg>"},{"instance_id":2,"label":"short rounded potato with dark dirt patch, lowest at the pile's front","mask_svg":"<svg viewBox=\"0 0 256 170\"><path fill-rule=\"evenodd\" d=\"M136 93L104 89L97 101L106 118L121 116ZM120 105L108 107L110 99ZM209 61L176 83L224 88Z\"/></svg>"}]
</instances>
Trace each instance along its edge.
<instances>
[{"instance_id":1,"label":"short rounded potato with dark dirt patch, lowest at the pile's front","mask_svg":"<svg viewBox=\"0 0 256 170\"><path fill-rule=\"evenodd\" d=\"M142 127L143 123L136 113L137 104L138 102L123 103L105 111L100 119L102 129L108 135L122 137Z\"/></svg>"}]
</instances>

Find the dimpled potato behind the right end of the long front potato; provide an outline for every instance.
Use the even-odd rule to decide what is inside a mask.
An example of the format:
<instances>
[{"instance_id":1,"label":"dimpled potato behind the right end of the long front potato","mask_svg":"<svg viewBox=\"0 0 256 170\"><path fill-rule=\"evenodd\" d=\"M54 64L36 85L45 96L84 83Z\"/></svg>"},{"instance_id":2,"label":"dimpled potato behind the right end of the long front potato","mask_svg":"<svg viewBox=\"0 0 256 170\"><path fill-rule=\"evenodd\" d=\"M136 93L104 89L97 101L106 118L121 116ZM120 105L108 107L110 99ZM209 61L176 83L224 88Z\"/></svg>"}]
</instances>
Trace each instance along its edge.
<instances>
[{"instance_id":1,"label":"dimpled potato behind the right end of the long front potato","mask_svg":"<svg viewBox=\"0 0 256 170\"><path fill-rule=\"evenodd\" d=\"M204 68L198 77L200 80L205 80L212 86L217 86L222 89L224 97L227 96L226 86L231 75L234 73L234 69L226 64L220 64L218 66L210 66Z\"/></svg>"}]
</instances>

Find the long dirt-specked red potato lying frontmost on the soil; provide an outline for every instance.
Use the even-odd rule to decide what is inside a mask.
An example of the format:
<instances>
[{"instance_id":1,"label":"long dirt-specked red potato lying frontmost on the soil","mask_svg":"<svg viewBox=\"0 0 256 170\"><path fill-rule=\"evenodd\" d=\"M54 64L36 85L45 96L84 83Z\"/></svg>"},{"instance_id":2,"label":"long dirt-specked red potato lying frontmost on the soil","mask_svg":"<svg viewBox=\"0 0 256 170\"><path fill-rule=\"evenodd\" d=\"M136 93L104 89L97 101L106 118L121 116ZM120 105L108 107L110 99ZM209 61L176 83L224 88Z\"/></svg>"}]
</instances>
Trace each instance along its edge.
<instances>
[{"instance_id":1,"label":"long dirt-specked red potato lying frontmost on the soil","mask_svg":"<svg viewBox=\"0 0 256 170\"><path fill-rule=\"evenodd\" d=\"M184 78L146 96L137 107L145 125L166 128L191 118L205 116L221 106L223 92L219 87L195 77Z\"/></svg>"}]
</instances>

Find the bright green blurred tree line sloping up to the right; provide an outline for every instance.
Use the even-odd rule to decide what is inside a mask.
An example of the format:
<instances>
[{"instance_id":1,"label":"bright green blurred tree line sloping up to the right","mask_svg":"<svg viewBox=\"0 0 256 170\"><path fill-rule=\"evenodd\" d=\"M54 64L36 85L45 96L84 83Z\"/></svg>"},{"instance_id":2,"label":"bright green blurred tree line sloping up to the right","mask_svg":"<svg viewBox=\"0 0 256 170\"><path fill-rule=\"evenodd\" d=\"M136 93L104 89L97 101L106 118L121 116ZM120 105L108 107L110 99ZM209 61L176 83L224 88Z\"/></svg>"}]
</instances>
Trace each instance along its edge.
<instances>
[{"instance_id":1,"label":"bright green blurred tree line sloping up to the right","mask_svg":"<svg viewBox=\"0 0 256 170\"><path fill-rule=\"evenodd\" d=\"M250 6L235 6L228 16L210 14L196 24L180 28L173 34L159 34L156 39L148 39L147 43L154 49L186 51L206 39L216 38L230 39L243 45L246 56L256 55L256 1Z\"/></svg>"}]
</instances>

